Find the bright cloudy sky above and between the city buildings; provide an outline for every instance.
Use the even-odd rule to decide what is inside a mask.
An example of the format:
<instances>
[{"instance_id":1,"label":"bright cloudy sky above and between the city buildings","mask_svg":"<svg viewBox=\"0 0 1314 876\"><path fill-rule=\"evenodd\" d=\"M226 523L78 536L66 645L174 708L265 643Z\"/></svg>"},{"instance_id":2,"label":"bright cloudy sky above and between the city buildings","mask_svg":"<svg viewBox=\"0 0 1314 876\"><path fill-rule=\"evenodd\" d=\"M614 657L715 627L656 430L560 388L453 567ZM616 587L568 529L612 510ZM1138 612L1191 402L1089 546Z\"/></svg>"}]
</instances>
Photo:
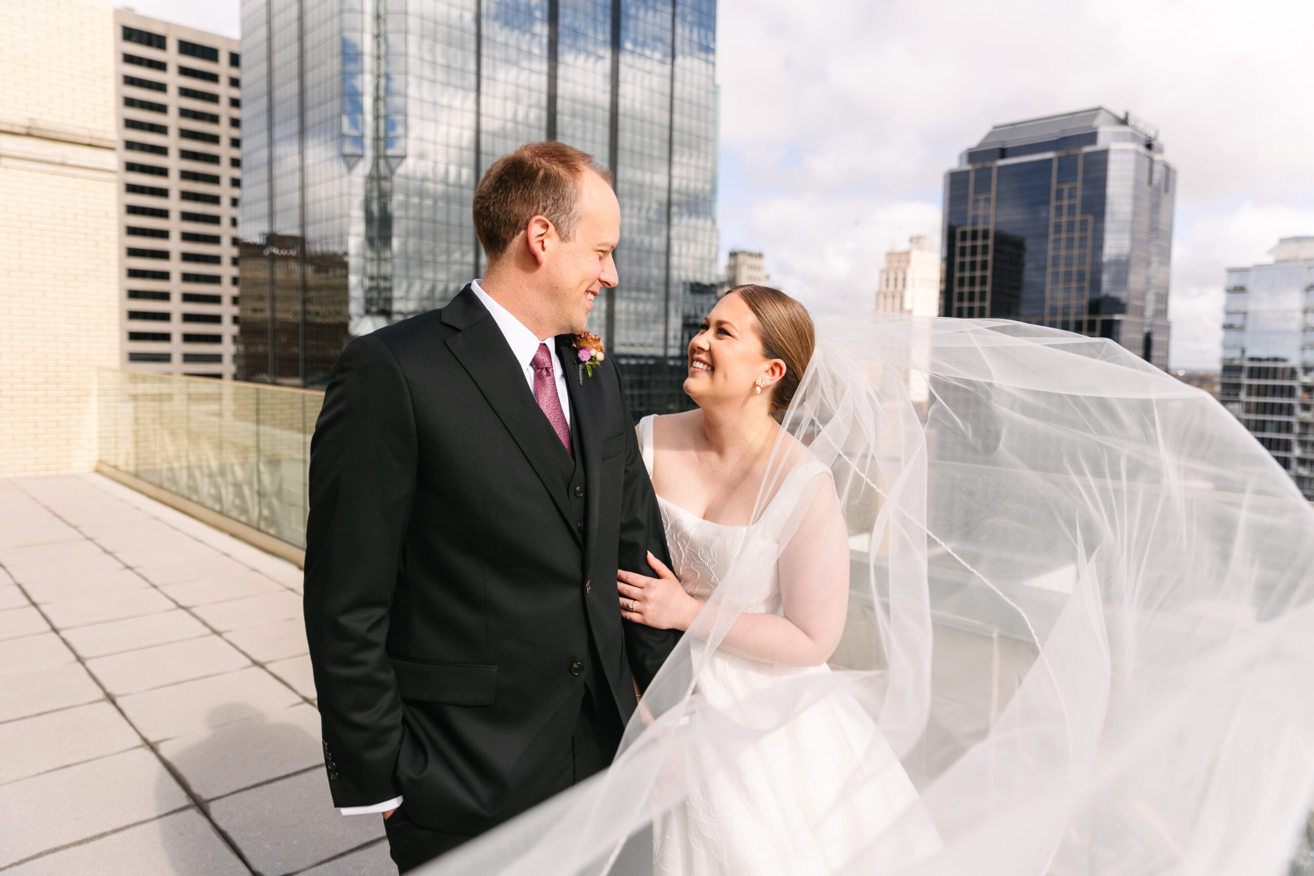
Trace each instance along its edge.
<instances>
[{"instance_id":1,"label":"bright cloudy sky above and between the city buildings","mask_svg":"<svg viewBox=\"0 0 1314 876\"><path fill-rule=\"evenodd\" d=\"M133 5L238 35L238 0ZM721 252L763 251L817 314L870 309L991 125L1131 110L1179 173L1171 364L1217 368L1223 268L1314 234L1311 33L1307 0L721 0Z\"/></svg>"}]
</instances>

